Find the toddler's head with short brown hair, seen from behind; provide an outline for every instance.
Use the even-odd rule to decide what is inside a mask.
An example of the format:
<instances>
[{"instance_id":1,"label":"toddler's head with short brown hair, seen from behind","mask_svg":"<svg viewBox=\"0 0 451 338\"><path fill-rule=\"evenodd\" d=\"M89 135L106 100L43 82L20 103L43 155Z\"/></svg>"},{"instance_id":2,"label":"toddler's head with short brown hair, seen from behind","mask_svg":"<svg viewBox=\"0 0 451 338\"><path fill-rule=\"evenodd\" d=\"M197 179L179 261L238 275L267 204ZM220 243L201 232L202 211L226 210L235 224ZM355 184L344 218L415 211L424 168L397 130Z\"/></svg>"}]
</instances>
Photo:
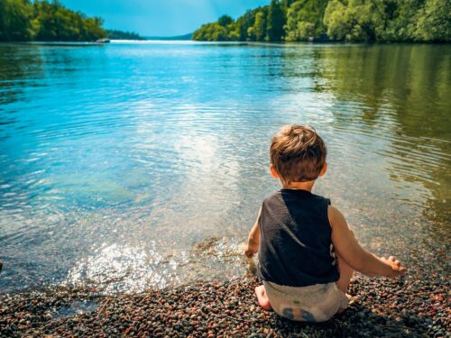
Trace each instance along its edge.
<instances>
[{"instance_id":1,"label":"toddler's head with short brown hair, seen from behind","mask_svg":"<svg viewBox=\"0 0 451 338\"><path fill-rule=\"evenodd\" d=\"M318 178L326 163L323 139L308 125L285 125L271 142L271 163L286 183Z\"/></svg>"}]
</instances>

